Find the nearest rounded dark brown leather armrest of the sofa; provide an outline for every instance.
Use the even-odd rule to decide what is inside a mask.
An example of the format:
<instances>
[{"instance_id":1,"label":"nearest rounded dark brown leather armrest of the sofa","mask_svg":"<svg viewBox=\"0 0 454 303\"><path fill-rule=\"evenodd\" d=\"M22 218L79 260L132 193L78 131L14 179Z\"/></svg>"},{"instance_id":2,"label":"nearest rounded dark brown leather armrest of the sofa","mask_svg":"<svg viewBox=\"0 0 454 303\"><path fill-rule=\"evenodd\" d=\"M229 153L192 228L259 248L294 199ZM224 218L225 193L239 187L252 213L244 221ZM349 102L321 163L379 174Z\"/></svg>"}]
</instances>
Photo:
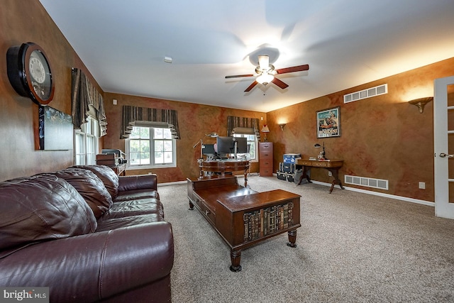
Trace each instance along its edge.
<instances>
[{"instance_id":1,"label":"nearest rounded dark brown leather armrest of the sofa","mask_svg":"<svg viewBox=\"0 0 454 303\"><path fill-rule=\"evenodd\" d=\"M172 225L156 222L28 246L0 259L0 285L50 287L50 302L94 302L170 274Z\"/></svg>"}]
</instances>

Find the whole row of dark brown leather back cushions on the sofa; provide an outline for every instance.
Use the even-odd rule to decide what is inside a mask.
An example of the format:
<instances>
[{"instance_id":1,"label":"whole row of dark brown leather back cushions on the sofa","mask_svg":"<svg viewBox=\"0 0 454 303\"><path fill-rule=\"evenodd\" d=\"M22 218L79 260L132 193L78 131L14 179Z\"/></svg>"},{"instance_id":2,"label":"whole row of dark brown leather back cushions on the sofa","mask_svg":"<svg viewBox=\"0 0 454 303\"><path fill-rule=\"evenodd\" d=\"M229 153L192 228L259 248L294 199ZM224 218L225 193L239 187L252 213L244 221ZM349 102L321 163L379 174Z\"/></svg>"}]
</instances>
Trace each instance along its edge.
<instances>
[{"instance_id":1,"label":"whole row of dark brown leather back cushions on the sofa","mask_svg":"<svg viewBox=\"0 0 454 303\"><path fill-rule=\"evenodd\" d=\"M0 258L39 241L93 233L117 195L118 176L104 165L0 182Z\"/></svg>"}]
</instances>

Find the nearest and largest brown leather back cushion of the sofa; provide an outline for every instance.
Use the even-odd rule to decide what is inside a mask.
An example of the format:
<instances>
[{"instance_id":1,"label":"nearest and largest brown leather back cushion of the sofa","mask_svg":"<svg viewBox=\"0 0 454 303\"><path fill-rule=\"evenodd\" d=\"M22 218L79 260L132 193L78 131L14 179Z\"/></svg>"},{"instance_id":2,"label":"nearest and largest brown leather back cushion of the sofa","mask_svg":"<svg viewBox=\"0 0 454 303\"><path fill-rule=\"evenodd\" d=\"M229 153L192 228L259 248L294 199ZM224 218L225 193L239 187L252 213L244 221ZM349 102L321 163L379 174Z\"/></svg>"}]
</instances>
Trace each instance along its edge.
<instances>
[{"instance_id":1,"label":"nearest and largest brown leather back cushion of the sofa","mask_svg":"<svg viewBox=\"0 0 454 303\"><path fill-rule=\"evenodd\" d=\"M68 182L41 174L0 182L0 249L96 230L84 198Z\"/></svg>"}]
</instances>

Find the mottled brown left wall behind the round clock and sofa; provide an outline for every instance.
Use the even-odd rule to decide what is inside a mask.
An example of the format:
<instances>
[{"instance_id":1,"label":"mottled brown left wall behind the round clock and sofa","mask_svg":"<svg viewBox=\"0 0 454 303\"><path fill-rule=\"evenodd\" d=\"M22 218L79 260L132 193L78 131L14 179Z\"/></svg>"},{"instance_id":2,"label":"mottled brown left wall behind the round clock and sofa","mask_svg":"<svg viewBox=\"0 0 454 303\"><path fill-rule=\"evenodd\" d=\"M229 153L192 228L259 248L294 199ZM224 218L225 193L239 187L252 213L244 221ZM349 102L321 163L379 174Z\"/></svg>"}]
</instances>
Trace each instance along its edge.
<instances>
[{"instance_id":1,"label":"mottled brown left wall behind the round clock and sofa","mask_svg":"<svg viewBox=\"0 0 454 303\"><path fill-rule=\"evenodd\" d=\"M72 165L72 150L35 150L33 119L38 106L19 96L6 73L6 51L33 42L48 56L55 80L49 106L71 114L71 67L84 68L38 0L2 0L0 6L0 180ZM88 73L89 74L89 73Z\"/></svg>"}]
</instances>

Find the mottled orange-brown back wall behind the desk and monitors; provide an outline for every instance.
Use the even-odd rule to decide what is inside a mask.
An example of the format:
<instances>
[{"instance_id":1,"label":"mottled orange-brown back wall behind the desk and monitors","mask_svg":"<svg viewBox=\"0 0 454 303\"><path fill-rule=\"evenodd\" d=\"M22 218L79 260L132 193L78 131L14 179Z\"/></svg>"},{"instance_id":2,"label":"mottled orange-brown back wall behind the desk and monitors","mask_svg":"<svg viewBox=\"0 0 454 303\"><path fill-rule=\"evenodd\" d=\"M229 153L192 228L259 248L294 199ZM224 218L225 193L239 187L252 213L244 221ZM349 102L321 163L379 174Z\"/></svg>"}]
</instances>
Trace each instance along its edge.
<instances>
[{"instance_id":1,"label":"mottled orange-brown back wall behind the desk and monitors","mask_svg":"<svg viewBox=\"0 0 454 303\"><path fill-rule=\"evenodd\" d=\"M118 105L113 105L116 99ZM243 111L239 109L227 109L217 106L170 101L145 97L128 96L124 94L104 94L104 106L108 125L108 134L104 136L103 143L106 148L125 149L124 139L120 139L122 106L134 105L155 109L175 109L178 113L179 134L177 140L177 167L161 168L153 170L128 170L127 175L140 175L153 172L158 175L158 182L175 182L195 178L199 176L197 159L200 157L200 146L192 148L206 133L216 131L219 136L227 136L227 116L240 116L260 119L266 123L265 113L258 111ZM263 121L261 118L263 117ZM204 143L216 143L215 138L205 137ZM258 163L251 165L251 172L258 172Z\"/></svg>"}]
</instances>

